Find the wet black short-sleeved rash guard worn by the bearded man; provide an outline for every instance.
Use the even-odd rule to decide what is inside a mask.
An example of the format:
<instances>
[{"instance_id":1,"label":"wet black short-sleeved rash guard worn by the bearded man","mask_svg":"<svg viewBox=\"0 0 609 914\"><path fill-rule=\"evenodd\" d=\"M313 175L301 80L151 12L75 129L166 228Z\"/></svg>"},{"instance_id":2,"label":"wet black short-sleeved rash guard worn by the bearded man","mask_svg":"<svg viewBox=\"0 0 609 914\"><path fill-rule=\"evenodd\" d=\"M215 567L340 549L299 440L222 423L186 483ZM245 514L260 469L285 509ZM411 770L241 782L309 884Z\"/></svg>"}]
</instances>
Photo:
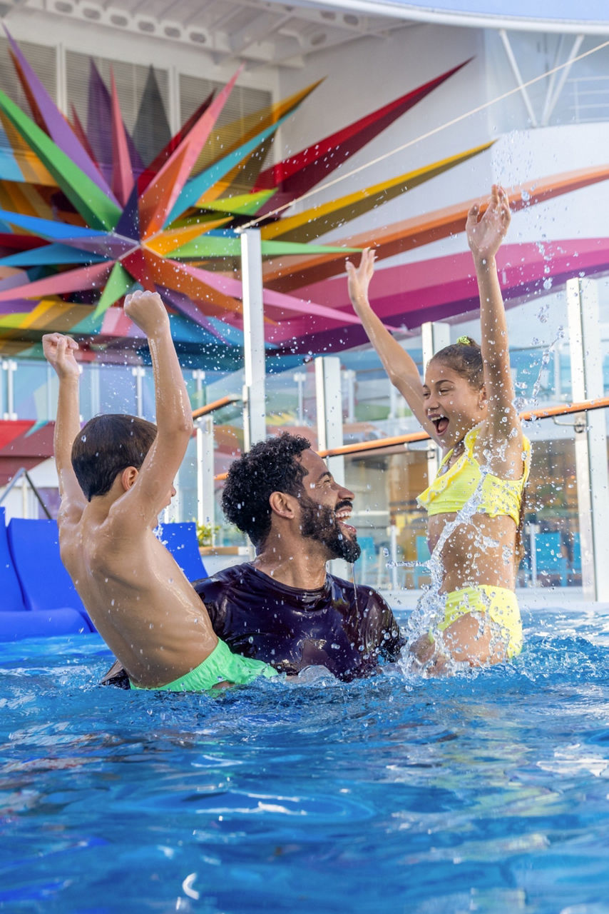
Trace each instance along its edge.
<instances>
[{"instance_id":1,"label":"wet black short-sleeved rash guard worn by the bearded man","mask_svg":"<svg viewBox=\"0 0 609 914\"><path fill-rule=\"evenodd\" d=\"M320 665L349 681L373 675L380 658L396 660L405 643L378 593L331 574L318 590L301 590L245 563L195 581L194 590L231 651L280 673Z\"/></svg>"}]
</instances>

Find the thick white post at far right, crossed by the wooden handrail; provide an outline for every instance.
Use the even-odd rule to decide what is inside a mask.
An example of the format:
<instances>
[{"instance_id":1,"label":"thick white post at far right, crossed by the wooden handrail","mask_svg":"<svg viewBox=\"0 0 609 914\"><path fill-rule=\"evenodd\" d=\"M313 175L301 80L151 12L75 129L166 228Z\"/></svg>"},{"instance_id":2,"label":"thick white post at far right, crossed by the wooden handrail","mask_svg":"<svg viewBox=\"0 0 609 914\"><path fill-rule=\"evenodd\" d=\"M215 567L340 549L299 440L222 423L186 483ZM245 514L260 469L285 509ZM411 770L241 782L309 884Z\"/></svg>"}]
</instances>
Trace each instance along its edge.
<instances>
[{"instance_id":1,"label":"thick white post at far right, crossed by the wooden handrail","mask_svg":"<svg viewBox=\"0 0 609 914\"><path fill-rule=\"evenodd\" d=\"M569 280L567 306L572 399L580 402L602 397L603 360L596 282ZM609 477L604 410L591 410L582 418L581 430L575 426L575 468L583 593L589 600L609 600L609 562L605 547L609 529ZM561 481L556 480L556 484Z\"/></svg>"}]
</instances>

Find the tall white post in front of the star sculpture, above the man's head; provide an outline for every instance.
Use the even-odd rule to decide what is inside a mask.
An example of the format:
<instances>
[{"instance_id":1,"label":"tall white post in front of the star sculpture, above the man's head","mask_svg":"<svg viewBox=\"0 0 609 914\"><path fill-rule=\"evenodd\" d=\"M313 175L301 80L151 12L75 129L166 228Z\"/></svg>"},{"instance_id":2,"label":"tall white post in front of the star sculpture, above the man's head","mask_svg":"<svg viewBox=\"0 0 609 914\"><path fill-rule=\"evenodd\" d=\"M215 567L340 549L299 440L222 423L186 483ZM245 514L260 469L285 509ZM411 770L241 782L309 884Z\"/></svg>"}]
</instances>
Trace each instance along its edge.
<instances>
[{"instance_id":1,"label":"tall white post in front of the star sculpture, above the man's head","mask_svg":"<svg viewBox=\"0 0 609 914\"><path fill-rule=\"evenodd\" d=\"M258 228L247 228L241 232L241 282L246 375L243 432L245 450L249 451L252 444L267 437L262 245Z\"/></svg>"}]
</instances>

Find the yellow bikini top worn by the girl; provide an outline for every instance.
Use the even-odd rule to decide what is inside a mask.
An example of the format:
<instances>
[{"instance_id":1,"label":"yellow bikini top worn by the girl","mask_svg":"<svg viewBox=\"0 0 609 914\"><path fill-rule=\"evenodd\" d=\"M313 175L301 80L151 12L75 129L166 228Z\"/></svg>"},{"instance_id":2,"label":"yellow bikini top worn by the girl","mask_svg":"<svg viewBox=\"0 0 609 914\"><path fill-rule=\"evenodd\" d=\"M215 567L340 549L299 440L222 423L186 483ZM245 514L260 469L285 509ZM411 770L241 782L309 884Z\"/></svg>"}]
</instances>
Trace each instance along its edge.
<instances>
[{"instance_id":1,"label":"yellow bikini top worn by the girl","mask_svg":"<svg viewBox=\"0 0 609 914\"><path fill-rule=\"evenodd\" d=\"M467 432L463 441L464 452L446 473L442 473L442 467L450 460L453 452L449 451L446 454L440 463L436 479L416 499L419 505L427 509L427 515L430 517L460 511L476 492L483 476L480 464L474 457L478 432L478 427ZM524 472L520 479L500 479L493 473L484 473L476 514L486 514L489 517L507 515L515 524L519 524L522 490L529 478L530 470L530 441L527 438L523 439L522 460Z\"/></svg>"}]
</instances>

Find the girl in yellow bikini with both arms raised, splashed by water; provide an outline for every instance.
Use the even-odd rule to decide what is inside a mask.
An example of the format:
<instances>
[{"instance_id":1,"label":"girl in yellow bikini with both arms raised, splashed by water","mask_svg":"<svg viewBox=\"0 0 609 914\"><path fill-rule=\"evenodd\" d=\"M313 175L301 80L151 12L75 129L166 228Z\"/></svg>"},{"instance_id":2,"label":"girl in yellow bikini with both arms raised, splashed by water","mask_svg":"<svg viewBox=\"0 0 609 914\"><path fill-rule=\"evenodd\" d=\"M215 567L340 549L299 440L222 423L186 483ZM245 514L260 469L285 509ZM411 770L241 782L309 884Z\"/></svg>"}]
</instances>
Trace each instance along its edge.
<instances>
[{"instance_id":1,"label":"girl in yellow bikini with both arms raised, splashed by water","mask_svg":"<svg viewBox=\"0 0 609 914\"><path fill-rule=\"evenodd\" d=\"M441 611L434 633L411 643L421 663L441 669L446 654L472 665L520 651L522 626L514 588L522 494L530 444L514 406L505 312L495 255L509 226L505 191L494 185L488 207L467 216L467 241L480 293L482 345L469 337L430 360L421 384L415 362L373 313L368 286L374 253L347 263L349 293L394 386L444 452L436 480L419 496L429 518L429 548L438 552ZM437 603L437 600L436 600Z\"/></svg>"}]
</instances>

